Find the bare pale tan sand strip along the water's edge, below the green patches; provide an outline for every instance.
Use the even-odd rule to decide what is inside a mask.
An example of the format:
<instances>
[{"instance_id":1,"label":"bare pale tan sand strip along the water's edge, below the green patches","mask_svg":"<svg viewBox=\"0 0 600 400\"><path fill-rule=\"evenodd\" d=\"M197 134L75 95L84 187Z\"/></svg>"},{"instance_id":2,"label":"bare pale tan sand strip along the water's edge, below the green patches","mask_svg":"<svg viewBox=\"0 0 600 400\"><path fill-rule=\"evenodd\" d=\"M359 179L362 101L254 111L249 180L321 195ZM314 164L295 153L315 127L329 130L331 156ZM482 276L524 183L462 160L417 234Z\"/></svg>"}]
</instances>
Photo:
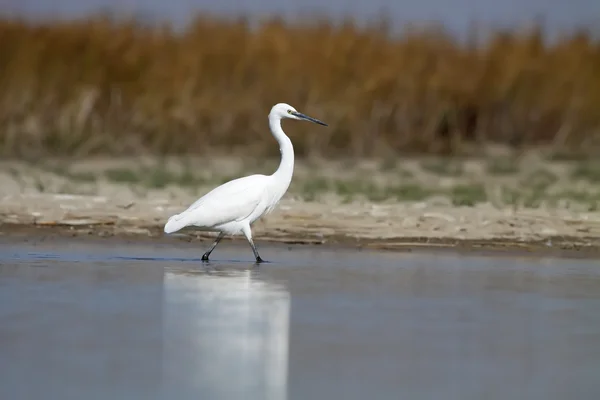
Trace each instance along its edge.
<instances>
[{"instance_id":1,"label":"bare pale tan sand strip along the water's edge, below the green patches","mask_svg":"<svg viewBox=\"0 0 600 400\"><path fill-rule=\"evenodd\" d=\"M177 202L179 203L179 202ZM167 217L182 205L167 198L20 194L0 201L0 233L11 235L116 236L169 240ZM545 210L499 210L491 205L327 205L283 200L257 221L260 242L344 244L353 247L575 250L600 254L600 215ZM184 230L173 237L210 240L212 233ZM239 238L237 238L239 240Z\"/></svg>"}]
</instances>

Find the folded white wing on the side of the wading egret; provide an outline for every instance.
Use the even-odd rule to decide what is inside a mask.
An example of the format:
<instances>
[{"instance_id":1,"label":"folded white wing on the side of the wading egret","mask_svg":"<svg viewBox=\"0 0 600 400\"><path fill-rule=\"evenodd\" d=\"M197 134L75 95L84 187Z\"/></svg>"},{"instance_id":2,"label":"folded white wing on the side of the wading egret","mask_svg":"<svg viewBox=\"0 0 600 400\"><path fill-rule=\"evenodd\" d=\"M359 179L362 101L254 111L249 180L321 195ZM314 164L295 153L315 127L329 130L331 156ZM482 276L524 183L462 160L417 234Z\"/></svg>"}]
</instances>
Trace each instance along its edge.
<instances>
[{"instance_id":1,"label":"folded white wing on the side of the wading egret","mask_svg":"<svg viewBox=\"0 0 600 400\"><path fill-rule=\"evenodd\" d=\"M248 217L265 195L268 177L250 175L218 186L179 214L189 224L212 227Z\"/></svg>"}]
</instances>

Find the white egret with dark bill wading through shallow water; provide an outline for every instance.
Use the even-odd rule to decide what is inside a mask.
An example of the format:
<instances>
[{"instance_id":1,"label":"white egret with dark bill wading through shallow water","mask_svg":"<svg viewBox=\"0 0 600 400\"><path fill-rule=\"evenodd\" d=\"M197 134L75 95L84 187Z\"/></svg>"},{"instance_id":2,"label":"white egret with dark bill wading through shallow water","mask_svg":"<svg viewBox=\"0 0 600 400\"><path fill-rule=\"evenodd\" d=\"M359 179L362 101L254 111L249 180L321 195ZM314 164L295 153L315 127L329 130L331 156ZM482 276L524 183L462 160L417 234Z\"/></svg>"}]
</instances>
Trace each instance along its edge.
<instances>
[{"instance_id":1,"label":"white egret with dark bill wading through shallow water","mask_svg":"<svg viewBox=\"0 0 600 400\"><path fill-rule=\"evenodd\" d=\"M250 225L273 211L290 186L294 173L294 146L281 129L283 118L311 121L327 126L318 119L299 113L289 104L274 105L269 113L269 128L279 143L281 152L281 162L277 171L272 175L256 174L234 179L211 190L187 210L170 217L165 224L165 233L177 232L186 226L201 231L219 232L212 246L202 255L202 261L208 261L210 253L225 235L241 232L250 243L256 262L263 262L252 241Z\"/></svg>"}]
</instances>

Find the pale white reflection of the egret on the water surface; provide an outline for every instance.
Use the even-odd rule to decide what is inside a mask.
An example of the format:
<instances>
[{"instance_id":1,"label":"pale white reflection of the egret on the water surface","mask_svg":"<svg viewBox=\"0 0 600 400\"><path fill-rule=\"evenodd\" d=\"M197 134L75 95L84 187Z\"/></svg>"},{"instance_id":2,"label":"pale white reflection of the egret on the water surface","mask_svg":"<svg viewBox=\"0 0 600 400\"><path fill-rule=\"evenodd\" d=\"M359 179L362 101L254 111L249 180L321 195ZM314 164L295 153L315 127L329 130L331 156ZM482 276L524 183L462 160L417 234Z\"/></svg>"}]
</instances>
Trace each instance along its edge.
<instances>
[{"instance_id":1,"label":"pale white reflection of the egret on the water surface","mask_svg":"<svg viewBox=\"0 0 600 400\"><path fill-rule=\"evenodd\" d=\"M283 285L259 279L254 265L207 264L165 272L164 296L169 394L287 398L290 295Z\"/></svg>"}]
</instances>

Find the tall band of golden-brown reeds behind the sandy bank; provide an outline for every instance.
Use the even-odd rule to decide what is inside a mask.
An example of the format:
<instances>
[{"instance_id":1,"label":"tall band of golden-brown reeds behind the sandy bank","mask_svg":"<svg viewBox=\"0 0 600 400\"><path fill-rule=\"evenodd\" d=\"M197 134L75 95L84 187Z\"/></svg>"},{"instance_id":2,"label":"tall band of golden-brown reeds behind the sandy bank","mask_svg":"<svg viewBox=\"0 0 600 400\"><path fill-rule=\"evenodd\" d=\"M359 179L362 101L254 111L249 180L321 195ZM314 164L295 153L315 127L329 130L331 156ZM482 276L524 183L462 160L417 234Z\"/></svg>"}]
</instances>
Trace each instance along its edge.
<instances>
[{"instance_id":1,"label":"tall band of golden-brown reeds behind the sandy bank","mask_svg":"<svg viewBox=\"0 0 600 400\"><path fill-rule=\"evenodd\" d=\"M600 142L600 43L436 30L392 38L352 22L251 29L199 16L183 34L104 17L0 20L0 154L276 154L266 115L288 102L300 156L456 152L465 143Z\"/></svg>"}]
</instances>

